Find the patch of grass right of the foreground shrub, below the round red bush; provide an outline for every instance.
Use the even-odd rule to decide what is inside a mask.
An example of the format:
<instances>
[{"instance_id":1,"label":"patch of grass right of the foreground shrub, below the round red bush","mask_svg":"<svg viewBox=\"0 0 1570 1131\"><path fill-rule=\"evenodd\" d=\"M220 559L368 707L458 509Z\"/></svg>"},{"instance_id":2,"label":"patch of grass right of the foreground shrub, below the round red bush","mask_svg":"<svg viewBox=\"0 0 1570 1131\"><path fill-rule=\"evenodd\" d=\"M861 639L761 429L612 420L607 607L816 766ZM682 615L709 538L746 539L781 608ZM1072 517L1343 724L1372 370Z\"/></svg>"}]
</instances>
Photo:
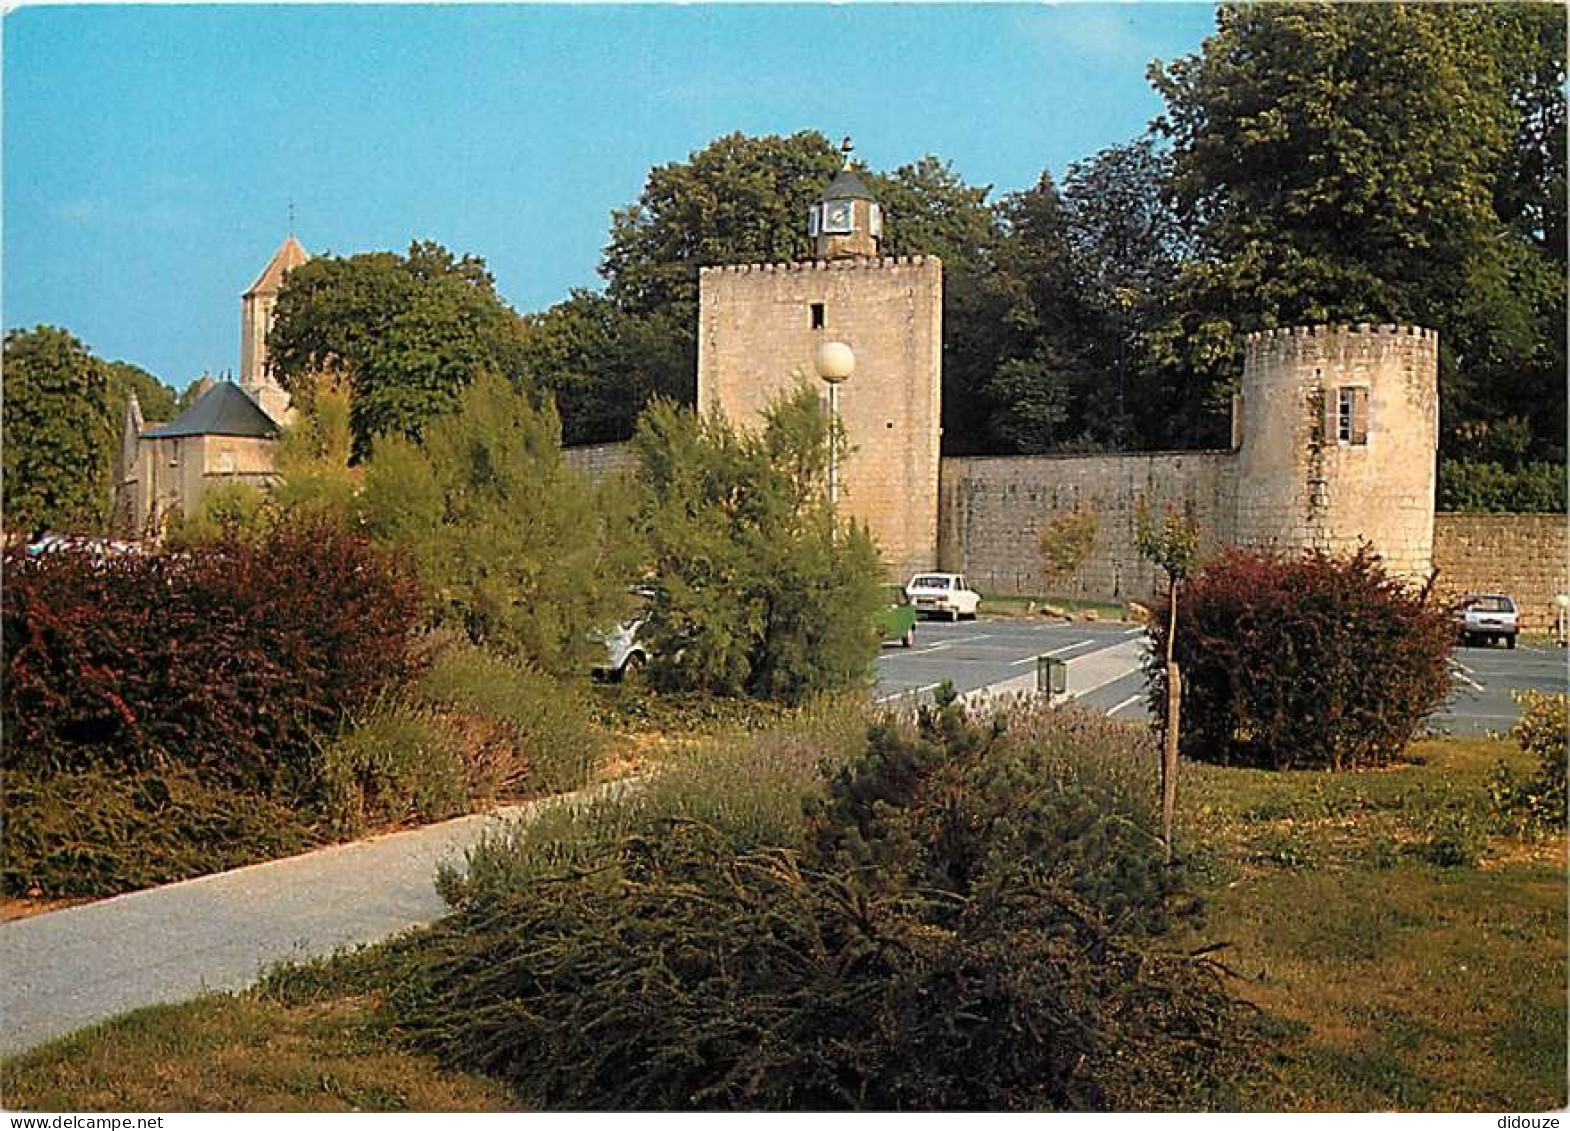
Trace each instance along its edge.
<instances>
[{"instance_id":1,"label":"patch of grass right of the foreground shrub, below the round red bush","mask_svg":"<svg viewBox=\"0 0 1570 1131\"><path fill-rule=\"evenodd\" d=\"M1261 1109L1565 1104L1564 844L1492 833L1502 741L1378 773L1184 765L1179 851L1276 1030Z\"/></svg>"}]
</instances>

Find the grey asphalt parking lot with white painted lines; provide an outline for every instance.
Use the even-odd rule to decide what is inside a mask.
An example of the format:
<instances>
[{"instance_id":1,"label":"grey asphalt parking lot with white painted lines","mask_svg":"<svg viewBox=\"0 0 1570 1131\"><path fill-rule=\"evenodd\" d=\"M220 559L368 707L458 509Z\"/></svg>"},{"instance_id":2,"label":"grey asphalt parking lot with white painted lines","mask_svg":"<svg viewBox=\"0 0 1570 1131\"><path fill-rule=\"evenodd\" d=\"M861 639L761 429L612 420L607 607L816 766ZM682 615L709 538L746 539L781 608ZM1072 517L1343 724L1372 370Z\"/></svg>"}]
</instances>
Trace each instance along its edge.
<instances>
[{"instance_id":1,"label":"grey asphalt parking lot with white painted lines","mask_svg":"<svg viewBox=\"0 0 1570 1131\"><path fill-rule=\"evenodd\" d=\"M1033 671L1038 655L1069 663L1075 702L1113 718L1148 718L1140 671L1145 633L1126 624L1022 619L922 620L915 647L884 647L878 657L878 699L925 694L945 679L972 691ZM1559 647L1465 647L1451 657L1455 675L1444 708L1429 719L1433 734L1460 737L1506 732L1520 716L1512 691L1570 688Z\"/></svg>"}]
</instances>

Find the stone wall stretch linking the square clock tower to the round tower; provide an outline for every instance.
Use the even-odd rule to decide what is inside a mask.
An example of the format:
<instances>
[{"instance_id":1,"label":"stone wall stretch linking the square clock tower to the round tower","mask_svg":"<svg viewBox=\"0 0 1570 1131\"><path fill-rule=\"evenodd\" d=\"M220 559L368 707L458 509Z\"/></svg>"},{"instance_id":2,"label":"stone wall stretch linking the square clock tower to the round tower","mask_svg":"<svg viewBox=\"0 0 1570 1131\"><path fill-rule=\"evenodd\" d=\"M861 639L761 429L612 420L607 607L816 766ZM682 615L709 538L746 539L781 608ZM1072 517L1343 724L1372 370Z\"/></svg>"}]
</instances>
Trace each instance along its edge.
<instances>
[{"instance_id":1,"label":"stone wall stretch linking the square clock tower to the round tower","mask_svg":"<svg viewBox=\"0 0 1570 1131\"><path fill-rule=\"evenodd\" d=\"M1157 586L1154 567L1134 548L1141 498L1190 514L1201 550L1237 536L1232 452L945 459L939 562L981 594L1146 598ZM1077 573L1049 583L1041 575L1041 529L1075 507L1097 515L1096 544Z\"/></svg>"}]
</instances>

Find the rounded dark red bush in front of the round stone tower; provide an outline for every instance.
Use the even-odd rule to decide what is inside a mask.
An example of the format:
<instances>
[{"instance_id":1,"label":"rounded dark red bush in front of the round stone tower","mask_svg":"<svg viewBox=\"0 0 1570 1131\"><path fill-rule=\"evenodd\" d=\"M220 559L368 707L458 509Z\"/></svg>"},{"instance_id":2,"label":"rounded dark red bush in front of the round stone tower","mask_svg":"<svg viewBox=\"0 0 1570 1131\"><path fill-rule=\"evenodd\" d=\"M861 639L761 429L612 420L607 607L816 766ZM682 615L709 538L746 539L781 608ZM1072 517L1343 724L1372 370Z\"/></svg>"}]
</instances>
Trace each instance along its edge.
<instances>
[{"instance_id":1,"label":"rounded dark red bush in front of the round stone tower","mask_svg":"<svg viewBox=\"0 0 1570 1131\"><path fill-rule=\"evenodd\" d=\"M1165 715L1167 617L1151 708ZM1182 752L1276 770L1383 765L1451 688L1452 611L1352 558L1229 548L1179 589Z\"/></svg>"}]
</instances>

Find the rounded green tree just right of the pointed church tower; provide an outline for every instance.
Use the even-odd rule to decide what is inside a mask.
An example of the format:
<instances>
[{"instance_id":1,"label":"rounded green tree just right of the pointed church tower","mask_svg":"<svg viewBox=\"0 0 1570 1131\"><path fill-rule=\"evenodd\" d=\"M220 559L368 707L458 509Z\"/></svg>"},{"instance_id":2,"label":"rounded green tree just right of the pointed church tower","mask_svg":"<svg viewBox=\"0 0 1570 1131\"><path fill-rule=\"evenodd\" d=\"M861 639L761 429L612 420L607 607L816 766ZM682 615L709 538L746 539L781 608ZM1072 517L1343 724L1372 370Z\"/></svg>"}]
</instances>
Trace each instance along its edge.
<instances>
[{"instance_id":1,"label":"rounded green tree just right of the pointed church tower","mask_svg":"<svg viewBox=\"0 0 1570 1131\"><path fill-rule=\"evenodd\" d=\"M298 404L309 402L314 374L347 379L356 460L377 437L418 437L480 369L523 371L521 322L485 261L432 242L410 243L407 256L320 256L289 272L267 349Z\"/></svg>"}]
</instances>

